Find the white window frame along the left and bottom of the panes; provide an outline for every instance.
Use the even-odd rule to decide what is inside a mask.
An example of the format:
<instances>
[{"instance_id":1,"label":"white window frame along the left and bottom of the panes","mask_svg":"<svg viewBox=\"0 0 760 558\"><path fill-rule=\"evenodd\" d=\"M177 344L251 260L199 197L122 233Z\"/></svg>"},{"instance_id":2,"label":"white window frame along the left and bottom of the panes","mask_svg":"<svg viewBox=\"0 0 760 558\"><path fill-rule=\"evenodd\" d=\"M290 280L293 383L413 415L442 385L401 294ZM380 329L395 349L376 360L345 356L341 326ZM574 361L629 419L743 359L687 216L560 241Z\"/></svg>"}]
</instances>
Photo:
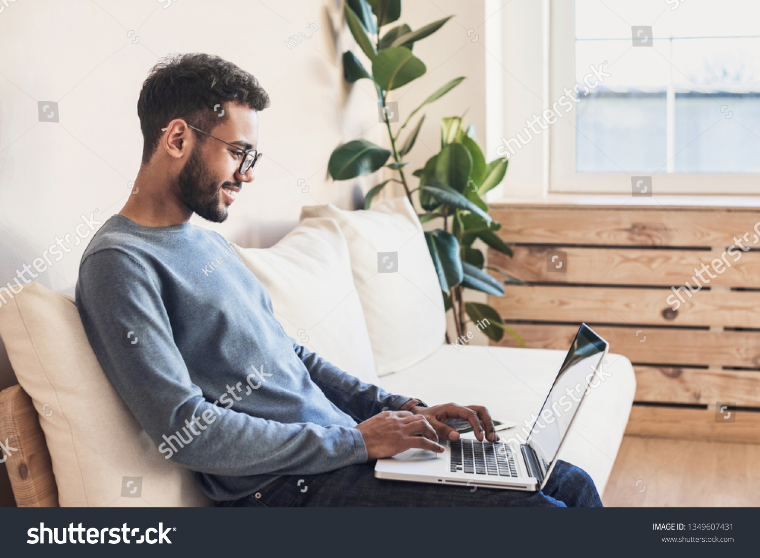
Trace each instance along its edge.
<instances>
[{"instance_id":1,"label":"white window frame along the left and bottom of the panes","mask_svg":"<svg viewBox=\"0 0 760 558\"><path fill-rule=\"evenodd\" d=\"M573 88L576 78L575 0L545 0L545 2L549 2L549 10L548 13L545 11L543 31L550 37L549 56L545 57L545 59L548 58L549 71L544 72L544 75L549 75L549 98L543 103L546 109L551 108L553 103L564 95L563 87ZM548 33L546 33L547 27ZM549 175L547 193L630 195L631 176L633 176L631 174L575 171L577 114L577 110L571 110L549 127L549 154L548 160L544 161L544 164L548 166L548 169L544 167L544 172ZM667 170L665 166L652 175L652 185L656 195L756 195L760 191L760 174L667 173Z\"/></svg>"}]
</instances>

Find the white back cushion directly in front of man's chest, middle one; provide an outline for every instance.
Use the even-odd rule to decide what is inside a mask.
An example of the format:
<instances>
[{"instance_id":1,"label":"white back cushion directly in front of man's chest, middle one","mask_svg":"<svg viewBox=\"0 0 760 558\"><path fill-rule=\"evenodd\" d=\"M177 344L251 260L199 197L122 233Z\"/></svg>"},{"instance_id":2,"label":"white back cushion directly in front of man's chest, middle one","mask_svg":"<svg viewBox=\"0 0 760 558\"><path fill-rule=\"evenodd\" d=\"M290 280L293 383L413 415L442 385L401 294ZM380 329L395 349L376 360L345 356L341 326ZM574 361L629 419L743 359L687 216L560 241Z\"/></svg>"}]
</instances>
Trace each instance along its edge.
<instances>
[{"instance_id":1,"label":"white back cushion directly in front of man's chest, middle one","mask_svg":"<svg viewBox=\"0 0 760 558\"><path fill-rule=\"evenodd\" d=\"M348 247L335 220L303 220L271 248L238 254L268 290L290 337L363 382L378 382Z\"/></svg>"}]
</instances>

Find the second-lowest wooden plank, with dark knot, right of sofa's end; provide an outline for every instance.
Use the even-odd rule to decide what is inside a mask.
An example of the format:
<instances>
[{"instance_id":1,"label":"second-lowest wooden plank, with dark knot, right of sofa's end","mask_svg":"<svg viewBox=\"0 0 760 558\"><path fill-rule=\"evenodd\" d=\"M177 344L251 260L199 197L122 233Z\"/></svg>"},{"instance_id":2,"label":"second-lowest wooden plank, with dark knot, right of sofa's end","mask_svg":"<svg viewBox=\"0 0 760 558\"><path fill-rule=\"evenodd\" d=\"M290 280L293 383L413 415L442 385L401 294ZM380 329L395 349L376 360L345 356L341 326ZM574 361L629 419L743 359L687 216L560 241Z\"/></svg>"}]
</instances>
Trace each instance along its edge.
<instances>
[{"instance_id":1,"label":"second-lowest wooden plank, with dark knot, right of sofa's end","mask_svg":"<svg viewBox=\"0 0 760 558\"><path fill-rule=\"evenodd\" d=\"M634 366L635 401L760 408L760 372Z\"/></svg>"}]
</instances>

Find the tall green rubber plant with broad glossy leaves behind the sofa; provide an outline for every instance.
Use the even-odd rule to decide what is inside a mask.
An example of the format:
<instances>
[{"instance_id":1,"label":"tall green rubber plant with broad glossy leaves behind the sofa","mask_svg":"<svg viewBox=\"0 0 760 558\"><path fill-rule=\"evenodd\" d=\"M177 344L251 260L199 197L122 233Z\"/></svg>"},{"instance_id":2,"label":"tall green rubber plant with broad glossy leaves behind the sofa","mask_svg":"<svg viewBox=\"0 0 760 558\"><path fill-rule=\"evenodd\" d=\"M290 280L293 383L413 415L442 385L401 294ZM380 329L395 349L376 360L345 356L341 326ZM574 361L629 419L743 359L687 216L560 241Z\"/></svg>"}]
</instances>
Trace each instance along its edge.
<instances>
[{"instance_id":1,"label":"tall green rubber plant with broad glossy leaves behind the sofa","mask_svg":"<svg viewBox=\"0 0 760 558\"><path fill-rule=\"evenodd\" d=\"M344 77L350 83L369 79L375 84L391 150L363 139L349 141L332 152L328 164L330 175L334 180L348 180L375 173L383 166L397 173L397 178L385 180L367 192L365 209L369 209L372 199L388 182L397 182L403 185L412 206L421 211L418 214L421 223L441 220L442 228L426 230L425 239L439 277L446 310L453 313L458 338L466 334L465 325L469 317L490 339L499 341L506 331L524 347L520 336L503 324L496 309L464 300L464 289L504 296L502 281L522 284L522 281L504 271L486 266L483 252L473 247L475 240L480 239L492 249L510 257L512 255L509 246L496 235L501 225L492 220L488 214L488 204L483 201L486 192L504 179L507 161L496 159L486 163L483 151L475 140L474 126L470 124L465 129L464 115L451 116L441 122L441 151L430 157L423 168L412 173L419 179L416 188L410 187L404 173L404 167L409 164L404 157L414 147L425 115L421 115L407 130L403 142L402 132L424 106L457 87L464 76L454 78L435 90L407 116L395 133L385 109L392 90L425 74L425 64L413 55L414 43L435 33L451 16L433 21L418 30L412 30L407 24L398 24L382 33L382 27L401 17L401 0L347 0L344 13L356 43L372 63L371 71L367 71L353 52L344 52ZM393 160L388 163L391 155ZM501 279L497 280L486 269L495 271Z\"/></svg>"}]
</instances>

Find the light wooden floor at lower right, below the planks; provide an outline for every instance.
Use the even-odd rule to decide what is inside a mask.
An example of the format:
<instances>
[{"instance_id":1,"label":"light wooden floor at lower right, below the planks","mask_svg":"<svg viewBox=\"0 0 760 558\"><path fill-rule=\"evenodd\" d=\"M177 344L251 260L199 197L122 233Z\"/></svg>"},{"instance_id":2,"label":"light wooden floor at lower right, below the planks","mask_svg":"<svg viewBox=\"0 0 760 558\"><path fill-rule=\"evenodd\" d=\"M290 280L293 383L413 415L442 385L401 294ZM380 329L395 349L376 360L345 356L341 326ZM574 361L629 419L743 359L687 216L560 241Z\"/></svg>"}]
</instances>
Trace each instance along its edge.
<instances>
[{"instance_id":1,"label":"light wooden floor at lower right, below the planks","mask_svg":"<svg viewBox=\"0 0 760 558\"><path fill-rule=\"evenodd\" d=\"M760 506L760 445L625 436L607 507Z\"/></svg>"}]
</instances>

